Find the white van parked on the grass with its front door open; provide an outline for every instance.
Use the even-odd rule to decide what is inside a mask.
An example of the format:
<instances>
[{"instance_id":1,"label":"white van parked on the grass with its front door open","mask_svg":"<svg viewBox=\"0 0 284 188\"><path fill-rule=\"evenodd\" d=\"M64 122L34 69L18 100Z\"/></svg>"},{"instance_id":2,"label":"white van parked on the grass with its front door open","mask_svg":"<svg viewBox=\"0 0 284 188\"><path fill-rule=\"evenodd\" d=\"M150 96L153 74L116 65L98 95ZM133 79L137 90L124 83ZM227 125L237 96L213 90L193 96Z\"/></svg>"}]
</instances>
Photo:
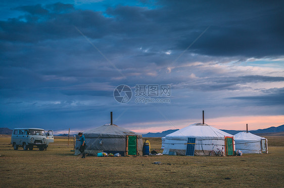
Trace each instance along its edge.
<instances>
[{"instance_id":1,"label":"white van parked on the grass with its front door open","mask_svg":"<svg viewBox=\"0 0 284 188\"><path fill-rule=\"evenodd\" d=\"M34 146L37 146L40 151L43 151L50 142L54 142L53 131L45 134L44 130L39 128L16 128L13 129L11 137L11 144L15 150L19 146L24 150L32 150Z\"/></svg>"}]
</instances>

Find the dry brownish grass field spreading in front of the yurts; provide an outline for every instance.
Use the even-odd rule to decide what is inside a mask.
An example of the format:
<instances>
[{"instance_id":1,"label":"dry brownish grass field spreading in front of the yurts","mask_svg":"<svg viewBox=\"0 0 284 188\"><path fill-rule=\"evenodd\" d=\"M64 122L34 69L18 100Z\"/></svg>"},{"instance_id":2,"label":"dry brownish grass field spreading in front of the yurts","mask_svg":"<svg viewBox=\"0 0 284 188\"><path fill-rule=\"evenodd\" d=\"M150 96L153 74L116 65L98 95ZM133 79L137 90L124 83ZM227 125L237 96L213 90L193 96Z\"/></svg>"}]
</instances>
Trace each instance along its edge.
<instances>
[{"instance_id":1,"label":"dry brownish grass field spreading in front of the yurts","mask_svg":"<svg viewBox=\"0 0 284 188\"><path fill-rule=\"evenodd\" d=\"M0 136L0 187L283 187L284 136L267 138L270 154L262 155L81 159L65 137L55 138L47 151L14 151L11 137ZM161 148L161 138L149 140L151 148Z\"/></svg>"}]
</instances>

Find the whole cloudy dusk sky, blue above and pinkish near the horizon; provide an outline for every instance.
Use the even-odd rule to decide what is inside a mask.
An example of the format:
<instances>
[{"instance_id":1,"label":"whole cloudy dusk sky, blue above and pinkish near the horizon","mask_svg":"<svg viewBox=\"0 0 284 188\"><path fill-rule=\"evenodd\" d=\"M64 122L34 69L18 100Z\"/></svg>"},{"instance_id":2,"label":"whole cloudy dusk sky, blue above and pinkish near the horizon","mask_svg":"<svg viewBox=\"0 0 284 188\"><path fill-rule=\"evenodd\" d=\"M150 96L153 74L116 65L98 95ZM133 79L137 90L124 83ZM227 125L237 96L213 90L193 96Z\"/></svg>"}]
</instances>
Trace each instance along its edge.
<instances>
[{"instance_id":1,"label":"whole cloudy dusk sky, blue above and pinkish near the horizon","mask_svg":"<svg viewBox=\"0 0 284 188\"><path fill-rule=\"evenodd\" d=\"M78 132L110 123L113 111L118 126L161 132L202 122L202 110L218 129L280 126L283 8L1 1L0 127Z\"/></svg>"}]
</instances>

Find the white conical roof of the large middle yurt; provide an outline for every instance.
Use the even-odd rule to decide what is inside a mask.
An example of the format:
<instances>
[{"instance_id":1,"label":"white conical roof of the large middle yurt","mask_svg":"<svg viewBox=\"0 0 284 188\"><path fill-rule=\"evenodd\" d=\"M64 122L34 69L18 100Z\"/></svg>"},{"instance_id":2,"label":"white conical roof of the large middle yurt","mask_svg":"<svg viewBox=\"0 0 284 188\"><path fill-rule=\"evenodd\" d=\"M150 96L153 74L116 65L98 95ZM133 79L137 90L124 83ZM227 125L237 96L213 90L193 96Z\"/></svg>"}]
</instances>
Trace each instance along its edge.
<instances>
[{"instance_id":1,"label":"white conical roof of the large middle yurt","mask_svg":"<svg viewBox=\"0 0 284 188\"><path fill-rule=\"evenodd\" d=\"M166 139L187 140L187 138L196 139L224 139L224 136L233 136L229 133L211 127L207 124L195 123L166 135Z\"/></svg>"}]
</instances>

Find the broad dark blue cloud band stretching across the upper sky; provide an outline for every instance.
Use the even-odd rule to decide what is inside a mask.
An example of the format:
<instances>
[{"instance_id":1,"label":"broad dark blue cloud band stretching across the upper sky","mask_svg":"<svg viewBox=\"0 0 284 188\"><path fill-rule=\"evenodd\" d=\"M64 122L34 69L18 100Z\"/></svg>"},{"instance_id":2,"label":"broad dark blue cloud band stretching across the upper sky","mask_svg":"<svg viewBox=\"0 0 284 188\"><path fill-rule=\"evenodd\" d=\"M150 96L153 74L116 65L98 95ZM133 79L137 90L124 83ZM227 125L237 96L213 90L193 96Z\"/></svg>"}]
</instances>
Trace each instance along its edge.
<instances>
[{"instance_id":1,"label":"broad dark blue cloud band stretching across the upper sky","mask_svg":"<svg viewBox=\"0 0 284 188\"><path fill-rule=\"evenodd\" d=\"M21 6L16 10L25 15L0 22L0 39L38 42L78 37L76 26L91 39L105 37L113 44L126 39L129 46L120 52L140 45L151 46L151 51L157 53L184 50L210 26L190 51L213 56L265 57L282 55L282 7L282 1L162 1L151 10L133 6L109 8L106 14L110 17L105 17L102 12L75 10L73 5L62 3Z\"/></svg>"}]
</instances>

